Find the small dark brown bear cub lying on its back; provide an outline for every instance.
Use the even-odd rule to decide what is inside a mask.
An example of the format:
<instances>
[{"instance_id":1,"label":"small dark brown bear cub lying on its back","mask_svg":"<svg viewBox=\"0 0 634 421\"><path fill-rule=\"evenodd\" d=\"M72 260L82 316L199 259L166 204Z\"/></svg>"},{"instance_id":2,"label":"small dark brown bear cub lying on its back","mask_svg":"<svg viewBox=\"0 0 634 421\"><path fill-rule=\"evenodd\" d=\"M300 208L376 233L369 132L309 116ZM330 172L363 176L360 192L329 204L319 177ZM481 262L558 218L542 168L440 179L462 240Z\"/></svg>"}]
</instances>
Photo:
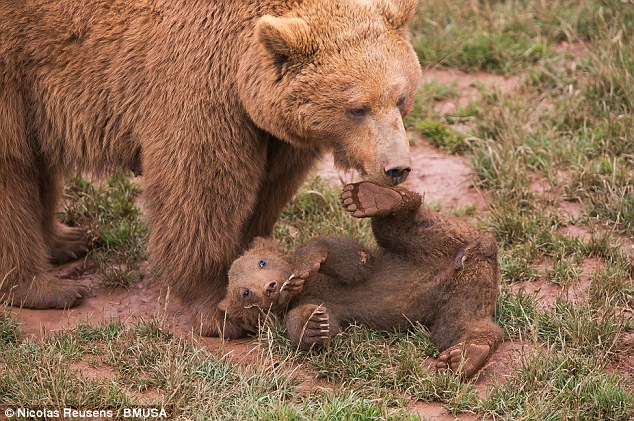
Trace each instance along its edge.
<instances>
[{"instance_id":1,"label":"small dark brown bear cub lying on its back","mask_svg":"<svg viewBox=\"0 0 634 421\"><path fill-rule=\"evenodd\" d=\"M350 184L342 201L372 218L378 248L318 237L287 254L259 238L229 271L227 319L254 328L261 311L285 313L301 349L325 346L351 323L390 331L418 322L441 351L439 370L475 374L502 341L495 240L404 188Z\"/></svg>"}]
</instances>

